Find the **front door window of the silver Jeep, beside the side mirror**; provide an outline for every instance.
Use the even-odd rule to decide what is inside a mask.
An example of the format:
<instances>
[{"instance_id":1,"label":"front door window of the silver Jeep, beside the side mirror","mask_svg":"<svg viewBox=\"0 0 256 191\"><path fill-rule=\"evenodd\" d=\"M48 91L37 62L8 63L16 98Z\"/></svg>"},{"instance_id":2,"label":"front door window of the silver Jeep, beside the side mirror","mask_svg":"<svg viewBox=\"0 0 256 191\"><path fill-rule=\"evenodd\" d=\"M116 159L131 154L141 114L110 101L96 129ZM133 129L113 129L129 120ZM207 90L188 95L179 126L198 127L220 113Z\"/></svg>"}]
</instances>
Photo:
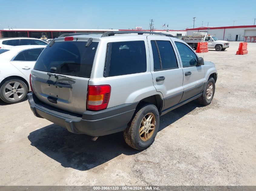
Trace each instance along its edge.
<instances>
[{"instance_id":1,"label":"front door window of the silver Jeep, beside the side mirror","mask_svg":"<svg viewBox=\"0 0 256 191\"><path fill-rule=\"evenodd\" d=\"M183 67L195 66L197 65L197 56L193 50L191 50L187 45L181 42L175 41L178 48L178 52L181 56L181 61Z\"/></svg>"}]
</instances>

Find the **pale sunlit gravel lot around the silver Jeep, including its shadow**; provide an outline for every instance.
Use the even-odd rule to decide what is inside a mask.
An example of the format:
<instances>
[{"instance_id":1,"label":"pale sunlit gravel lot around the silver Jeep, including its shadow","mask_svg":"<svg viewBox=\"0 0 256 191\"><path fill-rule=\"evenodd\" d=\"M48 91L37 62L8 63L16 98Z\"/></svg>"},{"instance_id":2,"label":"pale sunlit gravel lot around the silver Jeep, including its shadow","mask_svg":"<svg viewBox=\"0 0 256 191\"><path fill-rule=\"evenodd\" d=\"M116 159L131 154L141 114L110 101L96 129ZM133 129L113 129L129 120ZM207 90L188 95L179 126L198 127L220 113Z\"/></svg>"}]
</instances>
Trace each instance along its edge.
<instances>
[{"instance_id":1,"label":"pale sunlit gravel lot around the silver Jeep, including its shadow","mask_svg":"<svg viewBox=\"0 0 256 191\"><path fill-rule=\"evenodd\" d=\"M27 100L0 102L0 185L256 185L256 43L243 56L238 44L204 53L218 70L212 103L161 116L144 151L122 133L72 134L36 118Z\"/></svg>"}]
</instances>

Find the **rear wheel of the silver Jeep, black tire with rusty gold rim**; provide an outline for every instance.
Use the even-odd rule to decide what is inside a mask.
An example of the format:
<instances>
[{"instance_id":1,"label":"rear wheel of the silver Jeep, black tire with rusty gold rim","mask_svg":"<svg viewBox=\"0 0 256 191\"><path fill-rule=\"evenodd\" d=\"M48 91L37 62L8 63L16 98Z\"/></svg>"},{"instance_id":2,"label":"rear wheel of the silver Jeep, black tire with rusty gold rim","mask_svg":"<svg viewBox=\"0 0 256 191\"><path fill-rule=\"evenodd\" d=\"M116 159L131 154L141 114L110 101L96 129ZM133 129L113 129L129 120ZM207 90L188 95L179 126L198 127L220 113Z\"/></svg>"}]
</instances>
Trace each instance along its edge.
<instances>
[{"instance_id":1,"label":"rear wheel of the silver Jeep, black tire with rusty gold rim","mask_svg":"<svg viewBox=\"0 0 256 191\"><path fill-rule=\"evenodd\" d=\"M142 104L135 110L135 114L127 128L124 138L127 145L143 150L148 148L155 140L159 128L159 112L151 103Z\"/></svg>"}]
</instances>

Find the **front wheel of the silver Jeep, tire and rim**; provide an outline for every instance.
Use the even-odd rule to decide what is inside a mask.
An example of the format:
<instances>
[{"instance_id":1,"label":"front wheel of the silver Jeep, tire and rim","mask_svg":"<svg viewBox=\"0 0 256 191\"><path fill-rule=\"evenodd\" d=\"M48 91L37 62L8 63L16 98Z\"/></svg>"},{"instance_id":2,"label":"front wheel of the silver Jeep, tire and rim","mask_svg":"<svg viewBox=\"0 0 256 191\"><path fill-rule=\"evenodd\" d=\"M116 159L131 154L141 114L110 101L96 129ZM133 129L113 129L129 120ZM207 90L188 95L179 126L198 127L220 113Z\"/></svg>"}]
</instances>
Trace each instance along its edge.
<instances>
[{"instance_id":1,"label":"front wheel of the silver Jeep, tire and rim","mask_svg":"<svg viewBox=\"0 0 256 191\"><path fill-rule=\"evenodd\" d=\"M213 99L215 93L215 81L212 77L208 79L208 82L204 88L203 94L197 99L201 105L209 105Z\"/></svg>"}]
</instances>

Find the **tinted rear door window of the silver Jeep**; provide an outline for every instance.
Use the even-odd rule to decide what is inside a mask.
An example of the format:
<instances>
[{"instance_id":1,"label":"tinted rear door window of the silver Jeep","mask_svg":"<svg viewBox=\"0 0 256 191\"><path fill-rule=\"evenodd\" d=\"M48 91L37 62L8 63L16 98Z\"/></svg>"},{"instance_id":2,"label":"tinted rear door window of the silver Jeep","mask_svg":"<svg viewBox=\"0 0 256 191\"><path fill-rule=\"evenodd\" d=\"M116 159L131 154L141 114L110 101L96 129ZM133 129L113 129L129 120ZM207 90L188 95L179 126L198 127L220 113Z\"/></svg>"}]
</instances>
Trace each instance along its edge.
<instances>
[{"instance_id":1,"label":"tinted rear door window of the silver Jeep","mask_svg":"<svg viewBox=\"0 0 256 191\"><path fill-rule=\"evenodd\" d=\"M154 71L178 68L178 62L170 41L151 40Z\"/></svg>"}]
</instances>

